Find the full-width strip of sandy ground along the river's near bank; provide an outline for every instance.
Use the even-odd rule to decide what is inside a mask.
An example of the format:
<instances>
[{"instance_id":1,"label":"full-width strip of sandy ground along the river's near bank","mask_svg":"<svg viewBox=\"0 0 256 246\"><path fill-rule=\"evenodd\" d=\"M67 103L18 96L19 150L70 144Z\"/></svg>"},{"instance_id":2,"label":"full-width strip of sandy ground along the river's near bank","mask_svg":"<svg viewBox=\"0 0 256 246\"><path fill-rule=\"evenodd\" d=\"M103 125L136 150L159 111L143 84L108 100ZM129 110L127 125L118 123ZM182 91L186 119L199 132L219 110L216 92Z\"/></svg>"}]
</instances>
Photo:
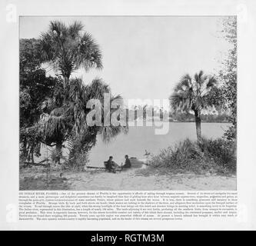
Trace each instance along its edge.
<instances>
[{"instance_id":1,"label":"full-width strip of sandy ground along the river's near bank","mask_svg":"<svg viewBox=\"0 0 256 246\"><path fill-rule=\"evenodd\" d=\"M23 169L20 174L21 190L236 190L235 175L195 175L154 173L151 168L131 168L126 171L50 171L48 176ZM60 173L62 178L60 178ZM48 177L48 178L47 178Z\"/></svg>"}]
</instances>

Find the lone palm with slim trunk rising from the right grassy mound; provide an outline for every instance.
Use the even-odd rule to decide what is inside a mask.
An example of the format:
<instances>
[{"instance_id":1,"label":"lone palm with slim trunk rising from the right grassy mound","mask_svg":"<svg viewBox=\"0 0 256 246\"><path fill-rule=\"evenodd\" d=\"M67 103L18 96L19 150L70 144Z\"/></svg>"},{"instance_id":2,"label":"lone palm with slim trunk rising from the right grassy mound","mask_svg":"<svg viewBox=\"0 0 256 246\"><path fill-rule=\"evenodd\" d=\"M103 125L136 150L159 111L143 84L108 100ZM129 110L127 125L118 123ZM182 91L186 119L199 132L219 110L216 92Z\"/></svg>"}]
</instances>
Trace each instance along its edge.
<instances>
[{"instance_id":1,"label":"lone palm with slim trunk rising from the right grassy mound","mask_svg":"<svg viewBox=\"0 0 256 246\"><path fill-rule=\"evenodd\" d=\"M194 78L188 74L183 76L169 98L175 112L194 111L198 140L201 139L201 110L217 105L214 101L216 89L217 80L214 76L204 75L204 72L200 71Z\"/></svg>"}]
</instances>

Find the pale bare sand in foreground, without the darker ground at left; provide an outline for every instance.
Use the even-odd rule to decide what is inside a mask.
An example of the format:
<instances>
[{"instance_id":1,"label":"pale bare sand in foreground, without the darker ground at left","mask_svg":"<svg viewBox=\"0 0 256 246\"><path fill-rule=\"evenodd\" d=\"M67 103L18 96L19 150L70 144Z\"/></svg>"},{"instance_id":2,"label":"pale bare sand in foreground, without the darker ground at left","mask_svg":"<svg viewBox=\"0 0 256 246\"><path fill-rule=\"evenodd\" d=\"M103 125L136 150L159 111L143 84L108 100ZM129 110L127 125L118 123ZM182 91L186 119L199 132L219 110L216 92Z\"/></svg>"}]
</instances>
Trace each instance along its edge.
<instances>
[{"instance_id":1,"label":"pale bare sand in foreground, without the darker ground at left","mask_svg":"<svg viewBox=\"0 0 256 246\"><path fill-rule=\"evenodd\" d=\"M66 175L71 190L235 190L236 178L218 175L141 175L135 170L118 174Z\"/></svg>"}]
</instances>

